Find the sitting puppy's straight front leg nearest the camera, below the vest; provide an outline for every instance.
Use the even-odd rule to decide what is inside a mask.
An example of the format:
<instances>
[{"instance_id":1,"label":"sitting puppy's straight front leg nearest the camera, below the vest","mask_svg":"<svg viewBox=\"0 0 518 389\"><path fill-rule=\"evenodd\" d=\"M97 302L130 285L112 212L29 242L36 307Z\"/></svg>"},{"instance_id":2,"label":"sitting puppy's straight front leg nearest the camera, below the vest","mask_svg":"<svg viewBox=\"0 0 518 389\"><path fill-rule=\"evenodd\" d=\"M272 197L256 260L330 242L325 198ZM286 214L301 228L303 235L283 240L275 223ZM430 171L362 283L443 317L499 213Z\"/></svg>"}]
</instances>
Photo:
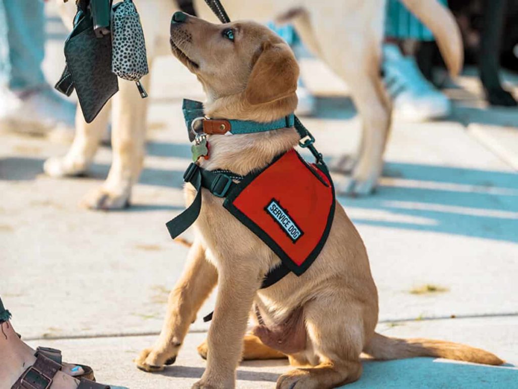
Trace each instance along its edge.
<instances>
[{"instance_id":1,"label":"sitting puppy's straight front leg nearest the camera, below the vest","mask_svg":"<svg viewBox=\"0 0 518 389\"><path fill-rule=\"evenodd\" d=\"M254 269L231 267L233 261L225 262L228 268L223 268L219 275L218 299L207 338L207 369L193 389L232 389L236 384L243 336L261 281Z\"/></svg>"}]
</instances>

